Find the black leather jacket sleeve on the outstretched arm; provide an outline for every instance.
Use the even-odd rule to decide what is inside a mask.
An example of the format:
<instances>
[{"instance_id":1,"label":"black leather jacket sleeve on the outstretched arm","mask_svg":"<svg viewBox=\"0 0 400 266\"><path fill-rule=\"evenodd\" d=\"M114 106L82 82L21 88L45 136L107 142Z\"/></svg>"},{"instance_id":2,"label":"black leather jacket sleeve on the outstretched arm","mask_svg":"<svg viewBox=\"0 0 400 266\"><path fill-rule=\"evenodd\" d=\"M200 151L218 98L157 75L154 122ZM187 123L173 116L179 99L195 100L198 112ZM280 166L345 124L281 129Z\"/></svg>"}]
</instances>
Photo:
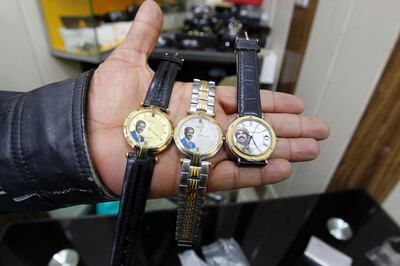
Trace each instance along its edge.
<instances>
[{"instance_id":1,"label":"black leather jacket sleeve on the outstretched arm","mask_svg":"<svg viewBox=\"0 0 400 266\"><path fill-rule=\"evenodd\" d=\"M0 212L117 199L97 177L87 147L92 73L26 93L0 92Z\"/></svg>"}]
</instances>

